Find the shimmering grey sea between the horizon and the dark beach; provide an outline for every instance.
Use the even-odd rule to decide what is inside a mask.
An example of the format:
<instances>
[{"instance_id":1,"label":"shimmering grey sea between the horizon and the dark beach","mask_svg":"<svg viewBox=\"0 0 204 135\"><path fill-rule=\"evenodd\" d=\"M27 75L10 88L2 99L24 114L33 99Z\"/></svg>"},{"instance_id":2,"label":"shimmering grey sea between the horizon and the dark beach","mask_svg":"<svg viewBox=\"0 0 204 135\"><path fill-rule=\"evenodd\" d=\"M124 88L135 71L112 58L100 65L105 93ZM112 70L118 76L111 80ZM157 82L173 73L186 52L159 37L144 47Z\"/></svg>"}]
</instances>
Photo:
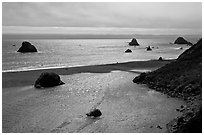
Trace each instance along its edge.
<instances>
[{"instance_id":1,"label":"shimmering grey sea between the horizon and the dark beach","mask_svg":"<svg viewBox=\"0 0 204 135\"><path fill-rule=\"evenodd\" d=\"M175 38L137 39L140 46L128 46L131 39L69 39L69 40L27 40L36 46L38 53L18 53L22 39L3 39L2 70L30 70L64 66L96 65L133 60L177 58L186 45L172 45ZM197 39L191 39L195 43ZM13 46L15 45L15 46ZM153 46L152 51L146 47ZM183 47L183 49L179 49ZM124 53L126 49L132 53Z\"/></svg>"}]
</instances>

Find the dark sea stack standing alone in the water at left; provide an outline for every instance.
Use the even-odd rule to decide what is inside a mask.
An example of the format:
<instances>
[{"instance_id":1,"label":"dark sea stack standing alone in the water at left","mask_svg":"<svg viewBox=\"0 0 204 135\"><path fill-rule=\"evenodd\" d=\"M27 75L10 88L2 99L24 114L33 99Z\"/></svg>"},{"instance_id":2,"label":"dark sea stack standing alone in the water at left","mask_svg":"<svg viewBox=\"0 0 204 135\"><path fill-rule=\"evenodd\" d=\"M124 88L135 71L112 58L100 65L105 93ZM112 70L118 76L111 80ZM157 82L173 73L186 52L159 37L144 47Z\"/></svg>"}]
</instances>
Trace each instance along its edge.
<instances>
[{"instance_id":1,"label":"dark sea stack standing alone in the water at left","mask_svg":"<svg viewBox=\"0 0 204 135\"><path fill-rule=\"evenodd\" d=\"M37 49L31 43L24 41L22 46L18 49L17 52L27 53L27 52L37 52Z\"/></svg>"}]
</instances>

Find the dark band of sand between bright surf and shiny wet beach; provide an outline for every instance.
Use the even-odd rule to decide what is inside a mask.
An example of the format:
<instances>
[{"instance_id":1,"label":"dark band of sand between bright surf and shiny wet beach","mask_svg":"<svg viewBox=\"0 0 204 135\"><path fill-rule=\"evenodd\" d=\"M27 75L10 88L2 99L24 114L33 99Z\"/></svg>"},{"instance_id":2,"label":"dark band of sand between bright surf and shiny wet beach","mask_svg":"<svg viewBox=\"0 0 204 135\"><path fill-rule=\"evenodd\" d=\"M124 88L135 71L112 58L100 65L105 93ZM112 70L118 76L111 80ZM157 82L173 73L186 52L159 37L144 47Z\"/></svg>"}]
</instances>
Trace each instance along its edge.
<instances>
[{"instance_id":1,"label":"dark band of sand between bright surf and shiny wet beach","mask_svg":"<svg viewBox=\"0 0 204 135\"><path fill-rule=\"evenodd\" d=\"M30 71L2 72L2 87L17 87L32 85L42 72L55 72L59 75L72 75L77 73L109 73L114 70L141 73L144 70L155 70L173 60L130 61L90 66L62 67L52 69L37 69ZM137 71L133 71L137 70ZM142 70L142 71L139 71Z\"/></svg>"}]
</instances>

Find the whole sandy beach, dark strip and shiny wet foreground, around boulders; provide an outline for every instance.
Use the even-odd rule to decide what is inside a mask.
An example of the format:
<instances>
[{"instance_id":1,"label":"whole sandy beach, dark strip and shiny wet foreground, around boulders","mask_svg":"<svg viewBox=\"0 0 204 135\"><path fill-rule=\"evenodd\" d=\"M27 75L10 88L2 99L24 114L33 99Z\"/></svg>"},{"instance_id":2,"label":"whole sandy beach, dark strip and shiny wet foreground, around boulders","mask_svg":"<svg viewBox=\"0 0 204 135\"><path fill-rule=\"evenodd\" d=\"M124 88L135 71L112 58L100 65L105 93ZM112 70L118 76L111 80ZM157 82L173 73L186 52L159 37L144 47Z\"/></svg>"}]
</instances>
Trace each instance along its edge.
<instances>
[{"instance_id":1,"label":"whole sandy beach, dark strip and shiny wet foreground, around boulders","mask_svg":"<svg viewBox=\"0 0 204 135\"><path fill-rule=\"evenodd\" d=\"M42 70L3 73L2 131L166 132L166 124L181 115L176 109L185 103L133 83L140 69L154 70L168 61L141 63L50 69L65 85L44 90L33 87ZM86 117L95 107L102 116Z\"/></svg>"}]
</instances>

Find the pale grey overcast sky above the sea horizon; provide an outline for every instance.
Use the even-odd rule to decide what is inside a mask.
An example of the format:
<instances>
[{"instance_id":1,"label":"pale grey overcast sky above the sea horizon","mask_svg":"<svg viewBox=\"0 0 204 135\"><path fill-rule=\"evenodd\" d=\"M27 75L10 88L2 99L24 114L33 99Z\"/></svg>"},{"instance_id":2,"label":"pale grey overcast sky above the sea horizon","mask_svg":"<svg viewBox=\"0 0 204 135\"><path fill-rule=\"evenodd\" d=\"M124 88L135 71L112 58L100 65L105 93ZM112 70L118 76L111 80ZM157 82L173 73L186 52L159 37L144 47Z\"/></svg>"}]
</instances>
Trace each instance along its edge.
<instances>
[{"instance_id":1,"label":"pale grey overcast sky above the sea horizon","mask_svg":"<svg viewBox=\"0 0 204 135\"><path fill-rule=\"evenodd\" d=\"M60 32L63 31L61 27L69 27L65 32L70 31L70 27L78 31L81 27L88 27L92 32L97 28L105 28L106 31L120 28L125 31L183 30L184 33L200 34L202 3L3 2L2 25L3 32Z\"/></svg>"}]
</instances>

